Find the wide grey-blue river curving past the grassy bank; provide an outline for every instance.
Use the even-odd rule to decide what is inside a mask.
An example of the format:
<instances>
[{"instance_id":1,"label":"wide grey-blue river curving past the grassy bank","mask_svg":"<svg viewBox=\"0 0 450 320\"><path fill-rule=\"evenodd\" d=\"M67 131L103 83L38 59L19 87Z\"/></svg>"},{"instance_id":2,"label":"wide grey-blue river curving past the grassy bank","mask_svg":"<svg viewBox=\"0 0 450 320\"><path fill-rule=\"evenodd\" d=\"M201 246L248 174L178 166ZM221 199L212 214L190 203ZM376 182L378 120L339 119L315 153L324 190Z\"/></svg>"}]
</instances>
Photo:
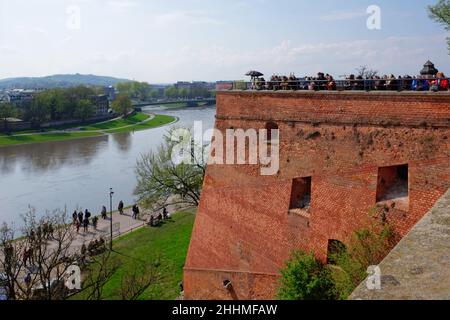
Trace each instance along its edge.
<instances>
[{"instance_id":1,"label":"wide grey-blue river curving past the grassy bank","mask_svg":"<svg viewBox=\"0 0 450 320\"><path fill-rule=\"evenodd\" d=\"M192 127L202 121L204 130L214 125L215 107L170 109L152 106L146 113L176 116L170 126L61 142L0 147L0 223L20 225L21 215L36 209L109 208L109 188L114 207L120 200L134 202L134 173L139 157L161 144L171 126Z\"/></svg>"}]
</instances>

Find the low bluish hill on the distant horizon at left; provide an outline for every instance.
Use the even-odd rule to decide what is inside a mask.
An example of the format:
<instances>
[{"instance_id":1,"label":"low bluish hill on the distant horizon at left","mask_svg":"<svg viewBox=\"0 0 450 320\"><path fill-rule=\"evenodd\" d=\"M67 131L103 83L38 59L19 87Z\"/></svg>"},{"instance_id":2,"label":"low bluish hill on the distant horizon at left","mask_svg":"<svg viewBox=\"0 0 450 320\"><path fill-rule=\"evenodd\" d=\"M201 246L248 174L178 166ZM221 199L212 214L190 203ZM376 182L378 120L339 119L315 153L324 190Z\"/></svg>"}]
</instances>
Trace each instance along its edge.
<instances>
[{"instance_id":1,"label":"low bluish hill on the distant horizon at left","mask_svg":"<svg viewBox=\"0 0 450 320\"><path fill-rule=\"evenodd\" d=\"M113 86L128 79L96 76L92 74L57 74L45 77L7 78L0 80L0 90L3 89L43 89L68 88L78 85L85 86Z\"/></svg>"}]
</instances>

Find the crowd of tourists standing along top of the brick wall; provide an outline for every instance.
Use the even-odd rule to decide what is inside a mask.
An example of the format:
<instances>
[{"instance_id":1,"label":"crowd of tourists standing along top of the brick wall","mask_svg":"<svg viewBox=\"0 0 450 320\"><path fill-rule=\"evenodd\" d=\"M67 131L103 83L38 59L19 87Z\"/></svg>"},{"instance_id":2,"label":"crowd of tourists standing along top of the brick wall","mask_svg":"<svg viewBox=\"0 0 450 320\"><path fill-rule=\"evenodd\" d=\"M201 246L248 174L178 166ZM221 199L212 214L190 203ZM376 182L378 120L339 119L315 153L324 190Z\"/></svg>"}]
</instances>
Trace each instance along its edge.
<instances>
[{"instance_id":1,"label":"crowd of tourists standing along top of the brick wall","mask_svg":"<svg viewBox=\"0 0 450 320\"><path fill-rule=\"evenodd\" d=\"M297 78L273 75L269 81L264 77L255 77L251 82L252 90L393 90L393 91L448 91L449 79L443 72L434 76L398 76L383 75L363 77L351 74L345 80L335 80L330 74L319 72L317 76Z\"/></svg>"}]
</instances>

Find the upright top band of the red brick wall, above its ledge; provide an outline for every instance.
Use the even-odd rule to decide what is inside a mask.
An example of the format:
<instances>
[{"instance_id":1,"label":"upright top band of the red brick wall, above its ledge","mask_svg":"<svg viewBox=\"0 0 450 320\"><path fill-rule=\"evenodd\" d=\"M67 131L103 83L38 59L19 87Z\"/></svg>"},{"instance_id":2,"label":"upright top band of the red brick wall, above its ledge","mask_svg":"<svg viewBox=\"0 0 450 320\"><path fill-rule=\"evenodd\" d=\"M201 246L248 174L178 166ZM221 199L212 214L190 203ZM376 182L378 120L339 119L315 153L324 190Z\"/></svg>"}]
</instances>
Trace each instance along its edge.
<instances>
[{"instance_id":1,"label":"upright top band of the red brick wall, above its ledge","mask_svg":"<svg viewBox=\"0 0 450 320\"><path fill-rule=\"evenodd\" d=\"M450 92L220 91L216 119L447 129Z\"/></svg>"}]
</instances>

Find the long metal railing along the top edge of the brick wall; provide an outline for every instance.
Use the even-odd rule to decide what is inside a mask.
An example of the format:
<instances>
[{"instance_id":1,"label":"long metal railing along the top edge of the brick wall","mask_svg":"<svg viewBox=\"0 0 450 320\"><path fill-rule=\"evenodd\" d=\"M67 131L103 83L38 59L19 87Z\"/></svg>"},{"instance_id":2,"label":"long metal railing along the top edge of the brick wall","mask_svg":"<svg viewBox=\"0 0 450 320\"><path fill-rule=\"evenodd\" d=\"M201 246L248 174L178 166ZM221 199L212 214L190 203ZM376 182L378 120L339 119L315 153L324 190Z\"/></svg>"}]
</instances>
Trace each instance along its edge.
<instances>
[{"instance_id":1,"label":"long metal railing along the top edge of the brick wall","mask_svg":"<svg viewBox=\"0 0 450 320\"><path fill-rule=\"evenodd\" d=\"M250 91L448 91L450 78L440 79L297 79L281 81L234 81L220 90Z\"/></svg>"}]
</instances>

